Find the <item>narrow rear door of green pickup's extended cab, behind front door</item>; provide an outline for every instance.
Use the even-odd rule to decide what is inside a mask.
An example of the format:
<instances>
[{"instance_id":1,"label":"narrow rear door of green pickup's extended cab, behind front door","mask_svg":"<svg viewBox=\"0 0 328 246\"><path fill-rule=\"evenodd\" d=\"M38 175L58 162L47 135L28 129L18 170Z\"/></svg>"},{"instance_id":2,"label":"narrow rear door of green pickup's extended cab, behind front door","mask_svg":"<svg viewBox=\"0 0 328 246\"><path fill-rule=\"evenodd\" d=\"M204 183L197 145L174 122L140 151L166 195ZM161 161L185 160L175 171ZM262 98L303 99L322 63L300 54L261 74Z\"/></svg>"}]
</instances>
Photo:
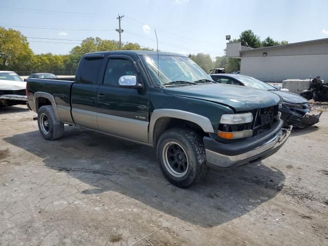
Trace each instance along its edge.
<instances>
[{"instance_id":1,"label":"narrow rear door of green pickup's extended cab, behind front door","mask_svg":"<svg viewBox=\"0 0 328 246\"><path fill-rule=\"evenodd\" d=\"M72 116L76 125L98 130L97 89L98 76L104 61L102 54L85 55L72 86Z\"/></svg>"}]
</instances>

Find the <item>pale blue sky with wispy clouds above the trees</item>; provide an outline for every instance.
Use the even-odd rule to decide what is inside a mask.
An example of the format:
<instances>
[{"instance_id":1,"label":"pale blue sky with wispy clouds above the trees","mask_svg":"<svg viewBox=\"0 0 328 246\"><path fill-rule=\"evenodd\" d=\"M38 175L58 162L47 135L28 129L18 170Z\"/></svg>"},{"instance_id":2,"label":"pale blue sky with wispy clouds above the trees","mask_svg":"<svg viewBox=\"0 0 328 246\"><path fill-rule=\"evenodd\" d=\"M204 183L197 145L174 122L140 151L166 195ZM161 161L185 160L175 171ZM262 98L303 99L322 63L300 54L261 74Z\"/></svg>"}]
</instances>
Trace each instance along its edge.
<instances>
[{"instance_id":1,"label":"pale blue sky with wispy clouds above the trees","mask_svg":"<svg viewBox=\"0 0 328 246\"><path fill-rule=\"evenodd\" d=\"M289 43L328 38L326 0L0 0L0 26L28 37L36 54L67 54L87 37L181 54L224 55L226 35L252 29Z\"/></svg>"}]
</instances>

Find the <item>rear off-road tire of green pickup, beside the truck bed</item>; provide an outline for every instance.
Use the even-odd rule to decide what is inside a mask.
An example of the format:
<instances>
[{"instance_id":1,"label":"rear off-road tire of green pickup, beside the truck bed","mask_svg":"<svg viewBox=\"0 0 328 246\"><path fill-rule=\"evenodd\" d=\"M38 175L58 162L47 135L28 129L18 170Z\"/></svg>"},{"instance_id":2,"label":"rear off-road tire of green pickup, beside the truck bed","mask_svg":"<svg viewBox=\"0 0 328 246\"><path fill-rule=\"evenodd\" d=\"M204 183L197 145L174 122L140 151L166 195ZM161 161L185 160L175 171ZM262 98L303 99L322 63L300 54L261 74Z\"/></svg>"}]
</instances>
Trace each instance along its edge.
<instances>
[{"instance_id":1,"label":"rear off-road tire of green pickup, beside the truck bed","mask_svg":"<svg viewBox=\"0 0 328 246\"><path fill-rule=\"evenodd\" d=\"M45 126L42 126L42 124L44 124L43 120L45 117L48 119L48 131L45 129ZM58 139L64 133L64 124L57 119L51 105L46 105L39 108L37 112L37 125L41 135L47 140Z\"/></svg>"}]
</instances>

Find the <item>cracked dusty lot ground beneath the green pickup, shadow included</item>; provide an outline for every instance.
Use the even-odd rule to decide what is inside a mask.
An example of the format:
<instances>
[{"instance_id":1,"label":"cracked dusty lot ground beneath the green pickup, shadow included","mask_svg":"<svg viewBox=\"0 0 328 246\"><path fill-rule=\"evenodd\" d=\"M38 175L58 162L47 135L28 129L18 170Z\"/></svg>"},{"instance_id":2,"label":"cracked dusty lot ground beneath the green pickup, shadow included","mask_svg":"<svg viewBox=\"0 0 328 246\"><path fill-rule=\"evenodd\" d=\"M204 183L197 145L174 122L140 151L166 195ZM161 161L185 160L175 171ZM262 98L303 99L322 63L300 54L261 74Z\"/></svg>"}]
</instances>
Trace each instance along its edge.
<instances>
[{"instance_id":1,"label":"cracked dusty lot ground beneath the green pickup, shadow included","mask_svg":"<svg viewBox=\"0 0 328 246\"><path fill-rule=\"evenodd\" d=\"M0 245L328 245L328 113L273 156L190 189L154 149L0 109Z\"/></svg>"}]
</instances>

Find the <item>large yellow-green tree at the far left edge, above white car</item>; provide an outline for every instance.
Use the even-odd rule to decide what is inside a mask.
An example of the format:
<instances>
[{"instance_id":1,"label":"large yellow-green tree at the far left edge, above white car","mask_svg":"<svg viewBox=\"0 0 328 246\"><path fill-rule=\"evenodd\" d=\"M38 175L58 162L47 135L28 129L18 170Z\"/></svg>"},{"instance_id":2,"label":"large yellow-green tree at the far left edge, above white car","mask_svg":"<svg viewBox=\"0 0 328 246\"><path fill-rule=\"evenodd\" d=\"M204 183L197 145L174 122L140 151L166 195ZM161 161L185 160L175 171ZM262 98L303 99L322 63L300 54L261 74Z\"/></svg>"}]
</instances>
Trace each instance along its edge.
<instances>
[{"instance_id":1,"label":"large yellow-green tree at the far left edge, above white car","mask_svg":"<svg viewBox=\"0 0 328 246\"><path fill-rule=\"evenodd\" d=\"M0 27L1 70L26 70L32 64L32 57L26 36L19 31Z\"/></svg>"}]
</instances>

